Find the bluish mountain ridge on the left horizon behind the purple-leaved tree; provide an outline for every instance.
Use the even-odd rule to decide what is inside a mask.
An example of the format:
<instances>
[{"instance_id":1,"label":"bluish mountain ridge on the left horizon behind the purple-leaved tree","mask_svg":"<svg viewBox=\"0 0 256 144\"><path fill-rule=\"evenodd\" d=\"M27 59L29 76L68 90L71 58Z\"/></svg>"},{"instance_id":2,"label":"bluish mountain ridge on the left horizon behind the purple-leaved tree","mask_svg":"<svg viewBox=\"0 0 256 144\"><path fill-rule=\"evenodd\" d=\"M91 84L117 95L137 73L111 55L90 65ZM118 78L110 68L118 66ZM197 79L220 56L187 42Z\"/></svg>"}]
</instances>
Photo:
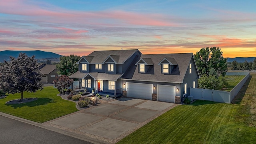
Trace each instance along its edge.
<instances>
[{"instance_id":1,"label":"bluish mountain ridge on the left horizon behind the purple-leaved tree","mask_svg":"<svg viewBox=\"0 0 256 144\"><path fill-rule=\"evenodd\" d=\"M41 50L28 50L28 51L19 51L19 50L4 50L4 51L0 51L0 62L3 62L4 60L9 60L10 56L13 56L15 58L17 58L20 54L20 52L22 53L26 53L27 56L31 57L31 56L35 56L36 59L40 60L40 59L60 59L59 54L53 53L53 52L44 52Z\"/></svg>"}]
</instances>

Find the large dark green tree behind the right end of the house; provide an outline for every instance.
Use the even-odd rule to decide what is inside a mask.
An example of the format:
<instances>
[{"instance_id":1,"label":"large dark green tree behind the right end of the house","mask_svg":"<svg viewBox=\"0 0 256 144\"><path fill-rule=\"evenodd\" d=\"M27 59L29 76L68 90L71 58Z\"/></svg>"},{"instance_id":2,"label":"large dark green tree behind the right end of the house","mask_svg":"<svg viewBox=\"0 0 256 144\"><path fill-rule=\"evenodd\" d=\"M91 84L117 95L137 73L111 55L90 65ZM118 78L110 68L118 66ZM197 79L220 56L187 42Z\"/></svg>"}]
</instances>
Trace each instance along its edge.
<instances>
[{"instance_id":1,"label":"large dark green tree behind the right end of the house","mask_svg":"<svg viewBox=\"0 0 256 144\"><path fill-rule=\"evenodd\" d=\"M202 77L204 74L209 76L209 72L211 68L216 70L217 76L225 76L228 70L227 68L227 59L222 56L222 51L220 48L212 47L212 48L201 48L194 55L196 66L198 68L198 72Z\"/></svg>"}]
</instances>

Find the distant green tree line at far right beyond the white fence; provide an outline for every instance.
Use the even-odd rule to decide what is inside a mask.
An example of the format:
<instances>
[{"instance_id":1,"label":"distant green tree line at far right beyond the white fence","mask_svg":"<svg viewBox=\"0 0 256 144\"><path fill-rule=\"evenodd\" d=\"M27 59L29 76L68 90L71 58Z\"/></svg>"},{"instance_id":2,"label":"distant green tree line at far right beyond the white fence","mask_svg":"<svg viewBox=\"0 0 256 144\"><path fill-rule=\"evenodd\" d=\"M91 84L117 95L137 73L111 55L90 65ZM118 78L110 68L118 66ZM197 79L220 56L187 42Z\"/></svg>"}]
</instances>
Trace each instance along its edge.
<instances>
[{"instance_id":1,"label":"distant green tree line at far right beyond the white fence","mask_svg":"<svg viewBox=\"0 0 256 144\"><path fill-rule=\"evenodd\" d=\"M231 65L231 70L256 70L256 58L254 58L253 62L245 60L243 63L238 63L234 60Z\"/></svg>"}]
</instances>

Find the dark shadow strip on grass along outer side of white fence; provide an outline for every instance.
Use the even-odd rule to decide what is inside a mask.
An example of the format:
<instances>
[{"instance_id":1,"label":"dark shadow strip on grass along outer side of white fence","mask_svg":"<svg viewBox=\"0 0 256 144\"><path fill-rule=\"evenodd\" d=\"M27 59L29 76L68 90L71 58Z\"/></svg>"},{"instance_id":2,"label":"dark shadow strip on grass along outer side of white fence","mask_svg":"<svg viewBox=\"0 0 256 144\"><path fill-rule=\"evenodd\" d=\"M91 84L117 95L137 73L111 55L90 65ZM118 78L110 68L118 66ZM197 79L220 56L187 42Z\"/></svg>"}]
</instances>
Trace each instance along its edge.
<instances>
[{"instance_id":1,"label":"dark shadow strip on grass along outer side of white fence","mask_svg":"<svg viewBox=\"0 0 256 144\"><path fill-rule=\"evenodd\" d=\"M244 86L241 88L241 90L238 92L238 94L236 95L236 97L232 100L231 104L240 104L242 99L244 98L245 92L249 86L249 83L252 79L252 75L250 75L248 77L248 79L246 80L246 82L244 83Z\"/></svg>"}]
</instances>

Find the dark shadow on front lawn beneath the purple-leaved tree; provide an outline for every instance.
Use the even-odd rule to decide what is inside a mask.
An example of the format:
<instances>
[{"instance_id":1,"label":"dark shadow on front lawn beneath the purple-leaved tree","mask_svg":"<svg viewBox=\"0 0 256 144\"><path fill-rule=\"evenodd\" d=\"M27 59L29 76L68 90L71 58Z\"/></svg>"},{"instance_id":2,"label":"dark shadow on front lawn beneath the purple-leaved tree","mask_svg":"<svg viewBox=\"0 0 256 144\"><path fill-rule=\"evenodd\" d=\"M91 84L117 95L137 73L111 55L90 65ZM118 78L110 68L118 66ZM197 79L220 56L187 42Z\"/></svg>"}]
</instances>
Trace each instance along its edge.
<instances>
[{"instance_id":1,"label":"dark shadow on front lawn beneath the purple-leaved tree","mask_svg":"<svg viewBox=\"0 0 256 144\"><path fill-rule=\"evenodd\" d=\"M13 108L21 108L23 106L29 106L29 107L34 107L34 106L42 106L42 105L47 105L49 103L55 103L54 99L52 98L37 98L37 100L32 101L32 102L26 102L22 104L6 104L6 106L11 106Z\"/></svg>"}]
</instances>

